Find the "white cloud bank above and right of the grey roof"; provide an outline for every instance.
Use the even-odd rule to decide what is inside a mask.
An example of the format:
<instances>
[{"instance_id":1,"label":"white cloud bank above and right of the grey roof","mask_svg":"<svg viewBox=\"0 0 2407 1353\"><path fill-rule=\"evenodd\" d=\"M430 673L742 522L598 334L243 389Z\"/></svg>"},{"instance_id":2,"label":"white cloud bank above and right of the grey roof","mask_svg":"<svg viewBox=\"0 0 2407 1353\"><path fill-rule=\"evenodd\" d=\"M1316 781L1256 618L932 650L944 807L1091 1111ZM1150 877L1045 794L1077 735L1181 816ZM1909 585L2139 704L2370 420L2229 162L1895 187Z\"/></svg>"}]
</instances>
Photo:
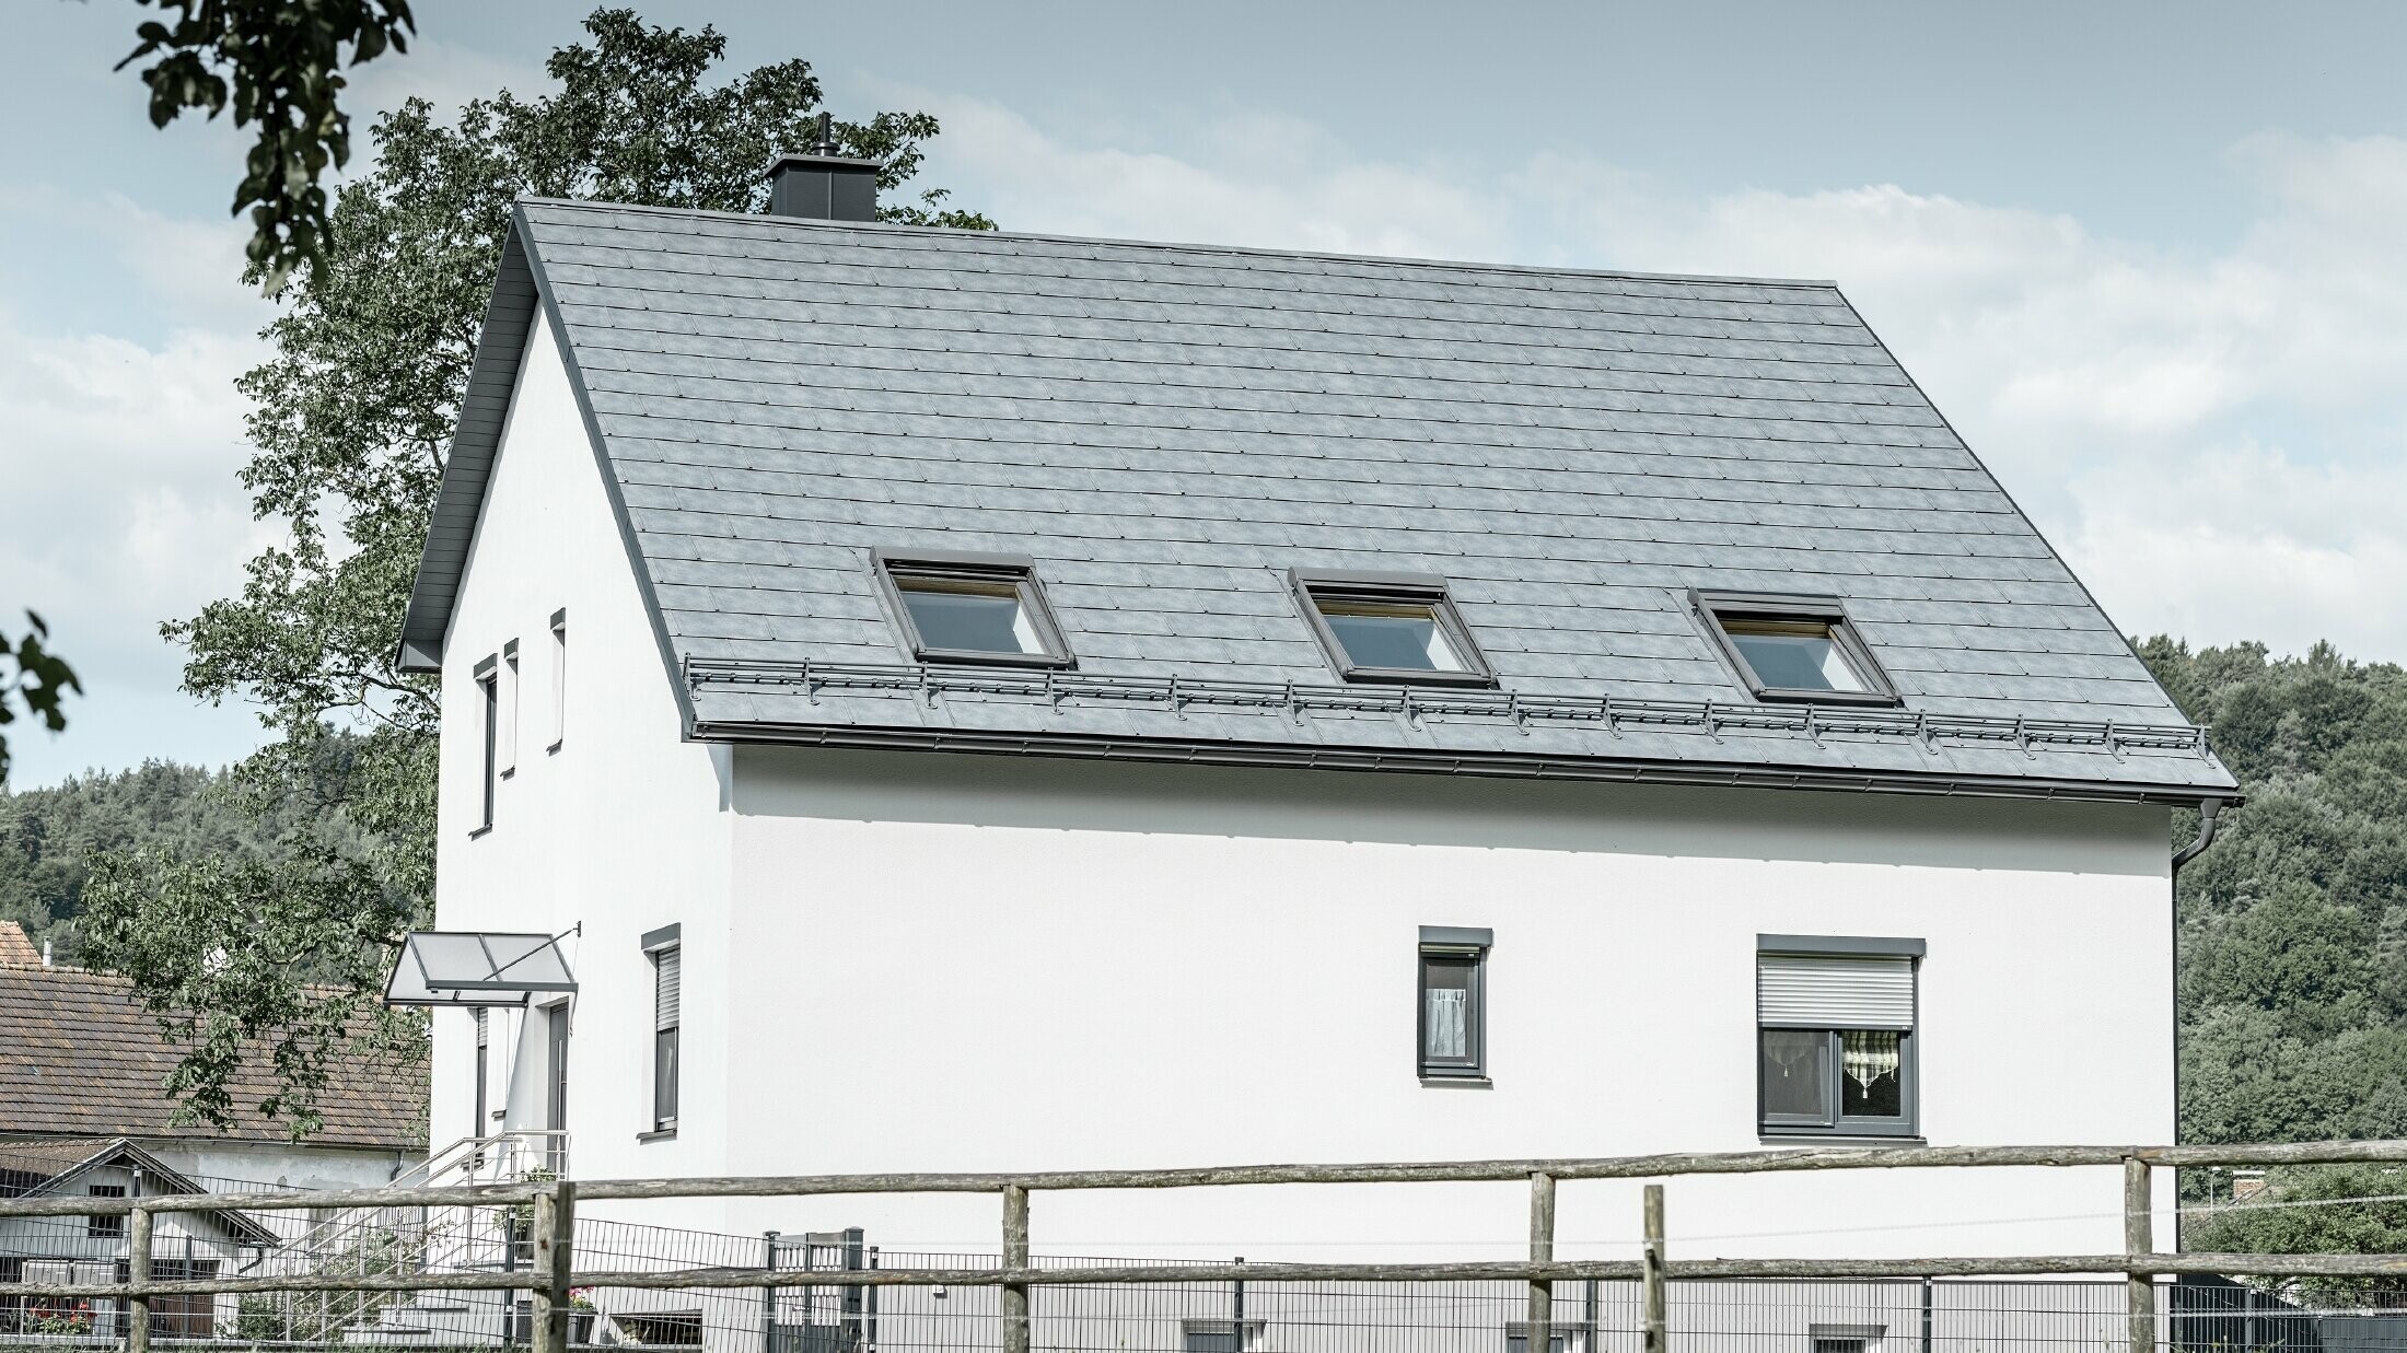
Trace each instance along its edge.
<instances>
[{"instance_id":1,"label":"white cloud bank above and right of the grey roof","mask_svg":"<svg viewBox=\"0 0 2407 1353\"><path fill-rule=\"evenodd\" d=\"M1832 277L2135 631L2332 638L2407 657L2407 140L2260 135L2214 250L1911 193L1690 193L1618 166L1370 164L1220 118L1093 147L915 89L929 181L1011 229L1764 277ZM1122 137L1134 140L1131 132Z\"/></svg>"}]
</instances>

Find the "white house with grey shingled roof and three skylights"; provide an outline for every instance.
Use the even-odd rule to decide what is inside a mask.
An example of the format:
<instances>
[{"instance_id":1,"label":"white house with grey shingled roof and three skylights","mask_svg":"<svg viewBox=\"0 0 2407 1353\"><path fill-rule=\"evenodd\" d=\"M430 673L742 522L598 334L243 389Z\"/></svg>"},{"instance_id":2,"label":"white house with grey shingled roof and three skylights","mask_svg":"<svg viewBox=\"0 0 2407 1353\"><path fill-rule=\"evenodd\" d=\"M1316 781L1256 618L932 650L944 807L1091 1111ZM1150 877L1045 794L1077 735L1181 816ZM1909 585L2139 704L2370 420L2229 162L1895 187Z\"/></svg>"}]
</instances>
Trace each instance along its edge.
<instances>
[{"instance_id":1,"label":"white house with grey shingled roof and three skylights","mask_svg":"<svg viewBox=\"0 0 2407 1353\"><path fill-rule=\"evenodd\" d=\"M518 207L404 636L443 934L397 997L486 1006L436 1141L2174 1136L2169 814L2234 780L1837 286L907 229L867 173ZM2099 1252L2113 1197L1707 1180L1673 1245ZM1045 1197L1035 1249L1509 1257L1524 1209ZM996 1247L987 1197L645 1216Z\"/></svg>"}]
</instances>

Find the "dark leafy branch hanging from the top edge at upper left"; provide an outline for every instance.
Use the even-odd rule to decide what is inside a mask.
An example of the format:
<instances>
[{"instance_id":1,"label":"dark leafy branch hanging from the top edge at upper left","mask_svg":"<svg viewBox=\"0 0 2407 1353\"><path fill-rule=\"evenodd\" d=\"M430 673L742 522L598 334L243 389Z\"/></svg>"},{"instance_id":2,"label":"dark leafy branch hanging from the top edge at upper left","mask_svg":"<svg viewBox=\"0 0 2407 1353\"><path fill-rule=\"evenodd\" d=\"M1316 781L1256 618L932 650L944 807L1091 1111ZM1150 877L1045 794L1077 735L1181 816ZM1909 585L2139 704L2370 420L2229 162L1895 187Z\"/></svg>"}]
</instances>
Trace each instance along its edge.
<instances>
[{"instance_id":1,"label":"dark leafy branch hanging from the top edge at upper left","mask_svg":"<svg viewBox=\"0 0 2407 1353\"><path fill-rule=\"evenodd\" d=\"M258 140L233 188L233 214L250 207L250 267L267 291L320 260L327 234L327 166L351 159L351 118L342 111L342 53L351 65L388 48L409 51L416 31L407 0L137 0L161 19L135 29L140 46L118 70L156 55L142 70L152 125L185 108L212 118L233 106L233 125L258 123ZM161 55L164 53L164 55ZM224 75L221 75L224 72ZM229 89L226 75L233 77Z\"/></svg>"}]
</instances>

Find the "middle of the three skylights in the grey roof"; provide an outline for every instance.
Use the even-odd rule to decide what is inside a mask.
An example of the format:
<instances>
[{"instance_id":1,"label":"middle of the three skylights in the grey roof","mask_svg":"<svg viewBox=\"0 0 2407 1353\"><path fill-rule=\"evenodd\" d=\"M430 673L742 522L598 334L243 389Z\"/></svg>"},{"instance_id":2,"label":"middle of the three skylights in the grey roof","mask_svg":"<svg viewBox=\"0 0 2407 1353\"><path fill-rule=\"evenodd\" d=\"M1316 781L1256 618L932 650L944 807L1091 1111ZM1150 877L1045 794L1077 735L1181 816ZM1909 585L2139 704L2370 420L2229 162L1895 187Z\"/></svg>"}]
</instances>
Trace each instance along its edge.
<instances>
[{"instance_id":1,"label":"middle of the three skylights in the grey roof","mask_svg":"<svg viewBox=\"0 0 2407 1353\"><path fill-rule=\"evenodd\" d=\"M1348 681L1490 686L1447 580L1423 573L1293 573L1295 599Z\"/></svg>"}]
</instances>

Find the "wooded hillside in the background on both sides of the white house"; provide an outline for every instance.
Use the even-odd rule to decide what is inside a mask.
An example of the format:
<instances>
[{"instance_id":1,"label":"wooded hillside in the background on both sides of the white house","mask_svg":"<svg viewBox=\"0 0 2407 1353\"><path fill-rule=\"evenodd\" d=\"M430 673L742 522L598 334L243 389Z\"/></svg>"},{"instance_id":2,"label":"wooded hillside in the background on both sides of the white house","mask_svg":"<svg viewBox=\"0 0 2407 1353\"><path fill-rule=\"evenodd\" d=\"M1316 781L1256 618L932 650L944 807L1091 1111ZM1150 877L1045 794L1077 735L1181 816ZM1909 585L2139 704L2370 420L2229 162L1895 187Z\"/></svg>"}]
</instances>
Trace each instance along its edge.
<instances>
[{"instance_id":1,"label":"wooded hillside in the background on both sides of the white house","mask_svg":"<svg viewBox=\"0 0 2407 1353\"><path fill-rule=\"evenodd\" d=\"M2178 886L2183 1139L2407 1136L2407 672L2320 645L2140 652L2248 794ZM168 763L0 792L0 920L72 961L91 852L274 855L308 819L344 838L342 746L267 819ZM2176 814L2174 840L2193 831Z\"/></svg>"}]
</instances>

